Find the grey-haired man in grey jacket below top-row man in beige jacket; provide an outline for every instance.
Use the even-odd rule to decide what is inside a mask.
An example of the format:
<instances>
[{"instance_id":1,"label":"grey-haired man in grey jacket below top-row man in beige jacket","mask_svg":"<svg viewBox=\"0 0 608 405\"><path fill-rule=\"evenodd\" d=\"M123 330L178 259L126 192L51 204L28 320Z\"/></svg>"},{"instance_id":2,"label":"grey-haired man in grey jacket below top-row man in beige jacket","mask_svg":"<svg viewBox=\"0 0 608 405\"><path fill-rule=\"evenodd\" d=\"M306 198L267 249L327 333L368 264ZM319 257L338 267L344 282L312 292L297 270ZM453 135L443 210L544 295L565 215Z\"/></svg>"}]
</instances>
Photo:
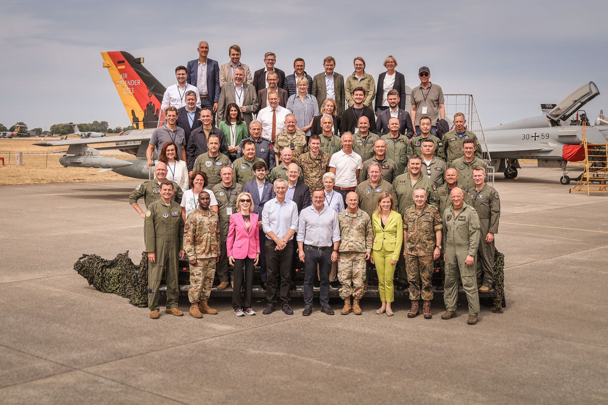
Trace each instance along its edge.
<instances>
[{"instance_id":1,"label":"grey-haired man in grey jacket below top-row man in beige jacket","mask_svg":"<svg viewBox=\"0 0 608 405\"><path fill-rule=\"evenodd\" d=\"M245 69L237 67L234 70L234 81L222 86L218 101L218 123L226 119L226 114L228 114L226 107L228 104L236 103L241 109L243 121L245 121L247 128L249 128L249 124L253 119L253 113L258 111L258 97L255 95L254 85L243 83L244 78Z\"/></svg>"}]
</instances>

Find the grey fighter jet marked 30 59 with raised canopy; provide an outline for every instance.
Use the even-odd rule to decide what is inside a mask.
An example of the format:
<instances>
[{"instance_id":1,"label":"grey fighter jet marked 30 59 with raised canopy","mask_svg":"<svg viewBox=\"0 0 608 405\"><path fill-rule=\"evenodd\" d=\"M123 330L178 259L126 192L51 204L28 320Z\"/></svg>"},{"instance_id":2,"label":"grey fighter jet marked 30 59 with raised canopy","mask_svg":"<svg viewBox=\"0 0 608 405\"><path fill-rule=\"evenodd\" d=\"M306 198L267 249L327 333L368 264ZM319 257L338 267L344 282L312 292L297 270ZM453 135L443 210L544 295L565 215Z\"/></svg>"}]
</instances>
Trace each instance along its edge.
<instances>
[{"instance_id":1,"label":"grey fighter jet marked 30 59 with raised canopy","mask_svg":"<svg viewBox=\"0 0 608 405\"><path fill-rule=\"evenodd\" d=\"M600 113L592 126L582 110L598 95L598 87L590 81L559 104L541 104L544 115L486 128L483 134L495 171L504 172L506 179L513 179L520 167L518 159L537 159L539 166L553 166L553 162L557 162L564 173L560 182L570 183L564 148L581 145L582 124L586 125L585 136L589 143L606 144L608 139L608 121L603 115ZM568 122L575 113L576 117Z\"/></svg>"}]
</instances>

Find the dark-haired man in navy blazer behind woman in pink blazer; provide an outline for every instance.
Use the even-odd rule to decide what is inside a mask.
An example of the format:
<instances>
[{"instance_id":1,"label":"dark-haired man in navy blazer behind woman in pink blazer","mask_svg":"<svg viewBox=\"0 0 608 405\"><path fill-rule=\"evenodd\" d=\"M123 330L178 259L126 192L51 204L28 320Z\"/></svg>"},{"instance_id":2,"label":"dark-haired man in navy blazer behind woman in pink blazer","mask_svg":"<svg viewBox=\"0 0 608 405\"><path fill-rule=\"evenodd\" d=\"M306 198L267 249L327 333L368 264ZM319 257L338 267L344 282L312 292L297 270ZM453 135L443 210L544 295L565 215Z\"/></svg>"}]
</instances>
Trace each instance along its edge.
<instances>
[{"instance_id":1,"label":"dark-haired man in navy blazer behind woman in pink blazer","mask_svg":"<svg viewBox=\"0 0 608 405\"><path fill-rule=\"evenodd\" d=\"M264 162L255 162L251 166L252 171L255 174L255 180L245 183L243 187L243 192L249 192L251 197L253 198L254 210L253 212L258 214L258 226L260 229L260 245L262 242L266 241L266 234L262 229L262 210L264 209L264 204L269 200L274 199L276 197L274 193L274 187L271 183L266 181L266 171L268 167ZM261 197L260 197L261 194ZM263 246L260 246L260 261L258 264L260 265L260 287L266 288L266 254L264 253L265 249Z\"/></svg>"}]
</instances>

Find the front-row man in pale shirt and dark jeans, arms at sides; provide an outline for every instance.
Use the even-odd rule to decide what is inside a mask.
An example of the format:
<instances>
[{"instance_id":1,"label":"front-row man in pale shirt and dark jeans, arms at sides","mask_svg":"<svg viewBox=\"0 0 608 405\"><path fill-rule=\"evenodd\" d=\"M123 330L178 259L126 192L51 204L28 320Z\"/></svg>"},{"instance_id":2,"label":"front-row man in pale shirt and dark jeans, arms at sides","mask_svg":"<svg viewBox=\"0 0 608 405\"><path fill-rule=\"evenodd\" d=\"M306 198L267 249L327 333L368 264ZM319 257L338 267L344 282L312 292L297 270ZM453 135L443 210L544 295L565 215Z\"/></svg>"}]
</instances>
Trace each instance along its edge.
<instances>
[{"instance_id":1,"label":"front-row man in pale shirt and dark jeans, arms at sides","mask_svg":"<svg viewBox=\"0 0 608 405\"><path fill-rule=\"evenodd\" d=\"M300 211L297 242L300 260L304 270L304 310L303 316L313 312L313 280L319 265L321 311L334 315L330 307L331 263L338 259L340 225L338 214L325 205L325 191L313 191L313 205Z\"/></svg>"}]
</instances>

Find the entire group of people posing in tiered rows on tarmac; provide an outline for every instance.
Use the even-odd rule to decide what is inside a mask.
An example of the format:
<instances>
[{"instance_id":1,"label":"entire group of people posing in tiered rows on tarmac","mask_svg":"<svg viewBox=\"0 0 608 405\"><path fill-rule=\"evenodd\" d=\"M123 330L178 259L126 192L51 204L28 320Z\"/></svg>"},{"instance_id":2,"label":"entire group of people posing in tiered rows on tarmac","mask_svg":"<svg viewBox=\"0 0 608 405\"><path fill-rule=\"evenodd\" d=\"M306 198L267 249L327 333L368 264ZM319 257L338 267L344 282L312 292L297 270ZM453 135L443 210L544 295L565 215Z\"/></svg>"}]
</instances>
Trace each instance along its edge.
<instances>
[{"instance_id":1,"label":"entire group of people posing in tiered rows on tarmac","mask_svg":"<svg viewBox=\"0 0 608 405\"><path fill-rule=\"evenodd\" d=\"M198 60L176 69L178 83L165 92L166 123L155 129L147 151L155 179L130 196L145 219L151 318L159 317L163 270L167 313L183 315L177 260L187 256L195 318L217 313L209 307L216 276L218 290L232 284L235 315L255 315L256 265L266 289L263 314L280 302L292 315L289 291L298 259L305 264L305 316L317 285L324 313L334 313L332 288L344 299L340 313L361 314L373 264L381 298L376 313L393 315L395 288L409 285L408 316L432 318L438 260L443 285L437 289L445 289L447 309L442 318L456 315L461 284L468 322L477 322L478 291L493 284L499 194L485 183L482 149L465 115L455 114L454 129L438 134L443 93L430 83L427 67L419 69L420 86L406 112L404 75L393 56L385 59L376 89L361 57L344 80L331 56L323 61L325 72L311 78L302 58L285 76L267 52L266 66L252 77L236 45L221 66L207 58L206 42L198 51ZM142 197L146 211L137 203Z\"/></svg>"}]
</instances>

